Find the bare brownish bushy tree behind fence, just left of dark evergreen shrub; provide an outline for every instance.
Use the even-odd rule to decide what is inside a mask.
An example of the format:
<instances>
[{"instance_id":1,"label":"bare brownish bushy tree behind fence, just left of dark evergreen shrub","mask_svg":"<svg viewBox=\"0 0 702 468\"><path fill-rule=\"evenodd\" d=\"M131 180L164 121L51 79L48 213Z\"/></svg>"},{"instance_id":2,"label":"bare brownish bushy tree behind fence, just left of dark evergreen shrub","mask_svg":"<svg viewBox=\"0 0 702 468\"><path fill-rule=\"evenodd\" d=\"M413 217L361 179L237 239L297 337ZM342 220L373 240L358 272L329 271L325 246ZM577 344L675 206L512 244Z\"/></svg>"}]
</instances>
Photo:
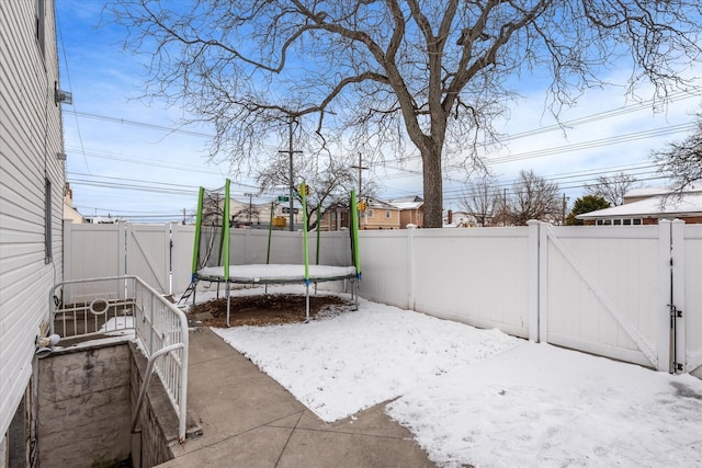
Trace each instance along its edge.
<instances>
[{"instance_id":1,"label":"bare brownish bushy tree behind fence, just left of dark evergreen shrub","mask_svg":"<svg viewBox=\"0 0 702 468\"><path fill-rule=\"evenodd\" d=\"M561 216L558 184L547 182L534 171L520 171L512 192L508 207L511 224L525 226L530 219L548 220Z\"/></svg>"}]
</instances>

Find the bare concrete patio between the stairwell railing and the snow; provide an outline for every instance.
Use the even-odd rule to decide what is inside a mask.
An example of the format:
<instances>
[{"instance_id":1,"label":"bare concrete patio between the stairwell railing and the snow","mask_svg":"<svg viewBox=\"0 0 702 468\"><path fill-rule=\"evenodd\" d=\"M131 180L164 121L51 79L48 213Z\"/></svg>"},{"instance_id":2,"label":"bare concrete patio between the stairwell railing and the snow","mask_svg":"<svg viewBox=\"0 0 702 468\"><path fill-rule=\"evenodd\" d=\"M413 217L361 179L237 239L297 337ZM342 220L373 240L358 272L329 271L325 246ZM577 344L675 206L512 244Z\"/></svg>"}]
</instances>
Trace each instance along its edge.
<instances>
[{"instance_id":1,"label":"bare concrete patio between the stairwell railing and the snow","mask_svg":"<svg viewBox=\"0 0 702 468\"><path fill-rule=\"evenodd\" d=\"M203 435L160 467L433 467L384 403L317 418L208 328L190 332L188 407Z\"/></svg>"}]
</instances>

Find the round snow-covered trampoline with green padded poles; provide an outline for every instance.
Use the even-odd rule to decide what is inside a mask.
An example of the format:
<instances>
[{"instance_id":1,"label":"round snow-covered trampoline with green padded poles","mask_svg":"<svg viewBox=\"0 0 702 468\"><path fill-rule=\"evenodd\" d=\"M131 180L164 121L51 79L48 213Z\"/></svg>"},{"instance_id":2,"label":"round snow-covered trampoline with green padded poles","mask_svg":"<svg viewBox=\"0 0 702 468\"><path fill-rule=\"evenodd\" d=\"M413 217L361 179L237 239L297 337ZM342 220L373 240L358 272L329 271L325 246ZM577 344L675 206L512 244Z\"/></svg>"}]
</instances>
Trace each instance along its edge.
<instances>
[{"instance_id":1,"label":"round snow-covered trampoline with green padded poles","mask_svg":"<svg viewBox=\"0 0 702 468\"><path fill-rule=\"evenodd\" d=\"M236 249L231 246L231 217L229 214L229 180L225 186L214 191L205 191L200 187L197 219L195 225L195 246L193 251L193 266L191 284L181 297L181 300L195 294L197 283L206 281L225 284L227 297L227 327L230 315L230 288L229 284L304 284L305 285L305 322L309 321L309 286L322 282L350 281L352 285L352 298L358 308L358 287L361 281L361 267L358 250L359 222L355 192L351 192L350 212L351 229L348 237L348 255L337 259L337 264L319 264L320 232L317 229L317 258L316 263L309 263L306 187L302 184L299 191L303 203L303 230L302 230L302 258L301 263L273 263L271 262L272 217L273 204L271 204L271 222L268 231L268 249L265 263L237 264L233 263ZM218 289L217 289L218 290Z\"/></svg>"}]
</instances>

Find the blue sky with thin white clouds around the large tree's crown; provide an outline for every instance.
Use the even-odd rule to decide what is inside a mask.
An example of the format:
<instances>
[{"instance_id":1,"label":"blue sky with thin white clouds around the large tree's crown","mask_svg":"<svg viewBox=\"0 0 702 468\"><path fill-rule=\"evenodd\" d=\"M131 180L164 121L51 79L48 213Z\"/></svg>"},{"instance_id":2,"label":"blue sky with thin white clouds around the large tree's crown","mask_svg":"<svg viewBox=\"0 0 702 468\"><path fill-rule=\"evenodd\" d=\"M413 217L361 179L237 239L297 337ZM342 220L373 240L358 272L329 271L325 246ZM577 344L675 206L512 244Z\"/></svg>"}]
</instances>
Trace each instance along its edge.
<instances>
[{"instance_id":1,"label":"blue sky with thin white clouds around the large tree's crown","mask_svg":"<svg viewBox=\"0 0 702 468\"><path fill-rule=\"evenodd\" d=\"M210 128L178 127L178 106L138 99L145 81L143 57L122 52L126 33L101 24L102 8L102 1L84 0L57 0L56 5L61 89L73 95L72 105L64 104L73 205L84 216L180 220L183 209L189 216L194 213L200 185L217 187L227 176L235 180L234 197L248 202L245 194L258 192L253 182L246 174L230 174L226 161L208 161ZM625 76L621 70L613 78ZM647 180L655 178L650 150L684 138L702 98L702 90L679 93L666 112L654 113L649 103L626 102L622 88L593 90L562 114L563 122L573 123L564 133L544 112L545 93L532 81L523 88L524 100L512 106L508 122L498 123L512 138L486 155L488 165L508 189L521 169L533 169L558 182L570 203L598 175L625 171L646 185L663 184ZM646 96L646 90L641 95ZM272 144L272 157L285 146ZM374 180L386 198L421 195L418 158L398 168L372 168L363 178ZM464 174L446 171L445 208L460 209L463 182ZM273 195L254 197L253 203L269 203Z\"/></svg>"}]
</instances>

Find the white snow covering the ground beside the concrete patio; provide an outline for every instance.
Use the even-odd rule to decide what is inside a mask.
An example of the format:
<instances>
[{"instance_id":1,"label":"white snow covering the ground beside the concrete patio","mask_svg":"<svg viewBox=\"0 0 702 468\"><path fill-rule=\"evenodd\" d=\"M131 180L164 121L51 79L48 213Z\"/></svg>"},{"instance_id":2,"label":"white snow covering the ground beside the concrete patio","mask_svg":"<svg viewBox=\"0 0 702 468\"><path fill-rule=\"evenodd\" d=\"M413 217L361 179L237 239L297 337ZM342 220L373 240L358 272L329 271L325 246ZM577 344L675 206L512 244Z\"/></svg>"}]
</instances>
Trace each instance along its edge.
<instances>
[{"instance_id":1,"label":"white snow covering the ground beside the concrete patio","mask_svg":"<svg viewBox=\"0 0 702 468\"><path fill-rule=\"evenodd\" d=\"M689 375L365 300L215 331L325 421L399 397L386 412L440 466L702 466L702 380Z\"/></svg>"}]
</instances>

